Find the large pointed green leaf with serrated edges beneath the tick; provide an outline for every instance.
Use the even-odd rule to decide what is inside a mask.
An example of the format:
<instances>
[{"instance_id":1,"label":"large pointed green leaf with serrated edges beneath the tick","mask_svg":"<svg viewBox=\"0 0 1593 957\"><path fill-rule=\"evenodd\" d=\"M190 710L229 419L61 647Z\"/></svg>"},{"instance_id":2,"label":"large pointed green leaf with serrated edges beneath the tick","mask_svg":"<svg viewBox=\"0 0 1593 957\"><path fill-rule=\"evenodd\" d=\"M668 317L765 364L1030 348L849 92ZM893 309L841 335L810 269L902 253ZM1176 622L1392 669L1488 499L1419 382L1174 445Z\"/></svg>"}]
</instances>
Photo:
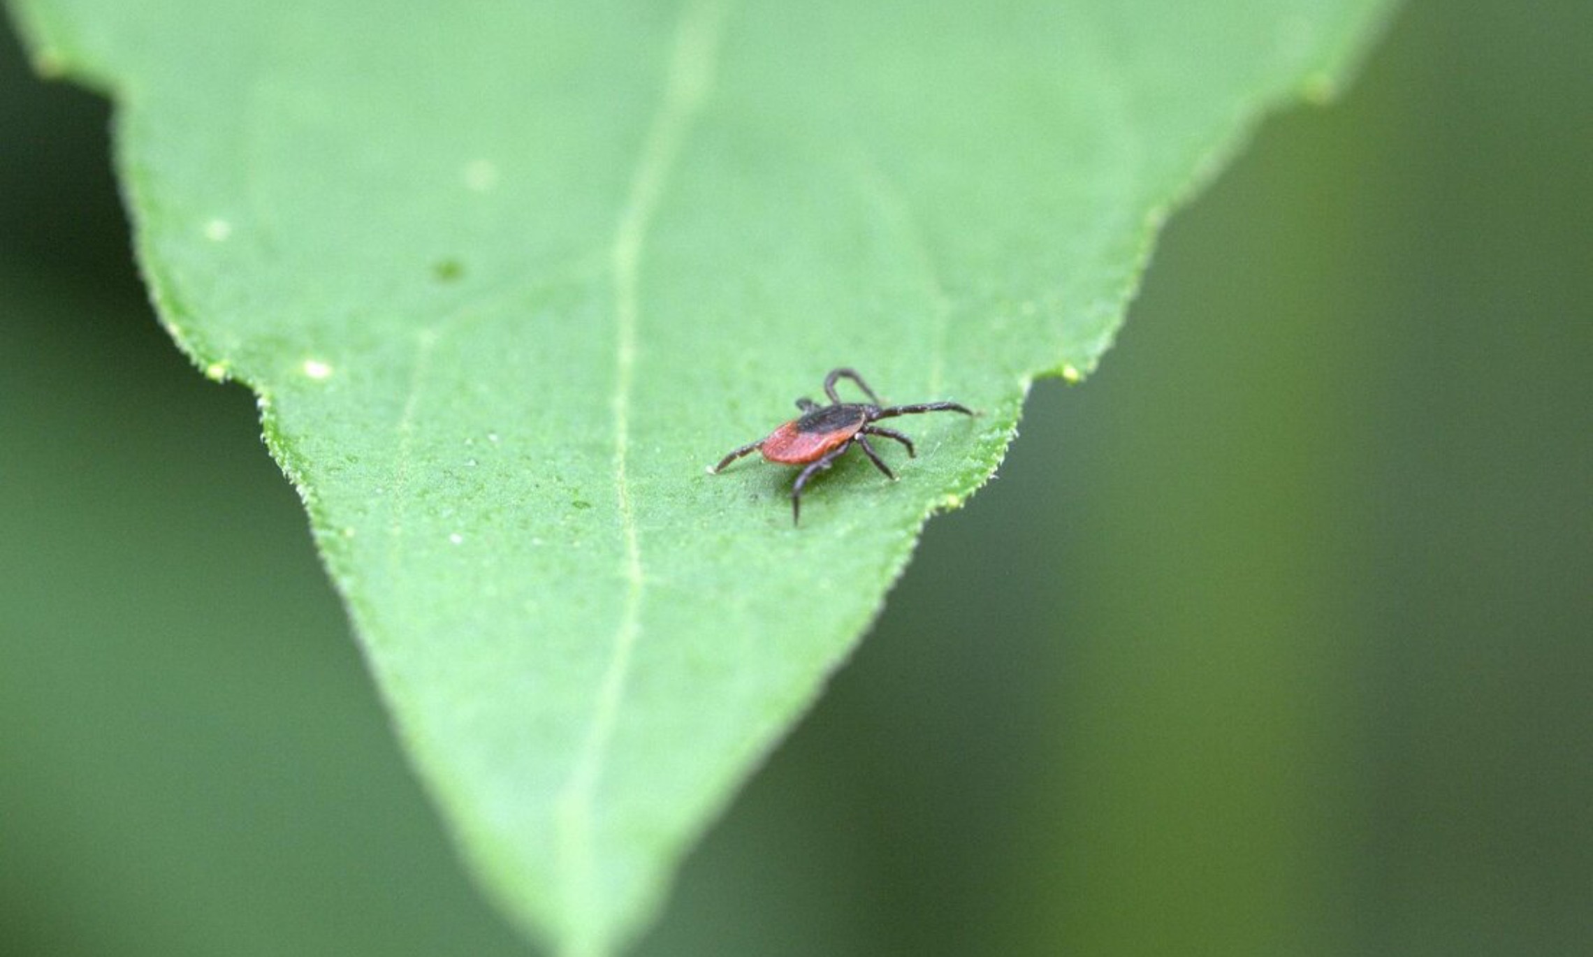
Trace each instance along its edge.
<instances>
[{"instance_id":1,"label":"large pointed green leaf with serrated edges beneath the tick","mask_svg":"<svg viewBox=\"0 0 1593 957\"><path fill-rule=\"evenodd\" d=\"M1375 0L13 0L110 92L162 320L266 439L486 887L610 952L1115 333L1169 207ZM903 419L704 467L827 369ZM992 646L999 654L999 646Z\"/></svg>"}]
</instances>

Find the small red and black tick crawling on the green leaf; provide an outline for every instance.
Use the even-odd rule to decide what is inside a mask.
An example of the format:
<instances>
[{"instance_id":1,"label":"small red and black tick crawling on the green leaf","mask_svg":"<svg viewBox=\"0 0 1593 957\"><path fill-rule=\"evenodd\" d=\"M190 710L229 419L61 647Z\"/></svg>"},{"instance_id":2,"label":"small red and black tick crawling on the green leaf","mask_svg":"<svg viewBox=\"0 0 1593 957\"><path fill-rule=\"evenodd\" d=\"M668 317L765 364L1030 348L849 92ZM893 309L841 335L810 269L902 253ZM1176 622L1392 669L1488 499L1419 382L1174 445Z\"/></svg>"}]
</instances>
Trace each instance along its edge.
<instances>
[{"instance_id":1,"label":"small red and black tick crawling on the green leaf","mask_svg":"<svg viewBox=\"0 0 1593 957\"><path fill-rule=\"evenodd\" d=\"M841 396L835 393L835 384L841 379L851 379L863 390L868 396L867 403L843 403ZM870 435L878 435L881 438L892 438L903 446L906 446L908 457L914 457L913 439L895 432L894 428L886 428L884 425L875 425L881 419L894 419L895 416L916 416L919 412L962 412L964 416L972 416L973 409L948 401L938 403L914 403L911 406L886 406L875 395L875 390L863 382L863 377L852 369L832 369L828 376L824 377L824 393L830 396L830 404L820 406L808 396L796 400L796 408L801 409L801 416L792 419L785 425L781 425L765 438L755 443L741 446L730 455L720 459L718 465L710 468L712 473L720 473L726 465L749 455L752 452L763 452L763 457L777 465L801 465L804 467L792 484L792 524L795 525L801 519L801 490L808 484L808 479L817 473L830 468L836 459L840 459L846 449L859 446L868 460L875 463L879 471L886 473L886 478L895 481L895 473L886 465L879 452L868 444Z\"/></svg>"}]
</instances>

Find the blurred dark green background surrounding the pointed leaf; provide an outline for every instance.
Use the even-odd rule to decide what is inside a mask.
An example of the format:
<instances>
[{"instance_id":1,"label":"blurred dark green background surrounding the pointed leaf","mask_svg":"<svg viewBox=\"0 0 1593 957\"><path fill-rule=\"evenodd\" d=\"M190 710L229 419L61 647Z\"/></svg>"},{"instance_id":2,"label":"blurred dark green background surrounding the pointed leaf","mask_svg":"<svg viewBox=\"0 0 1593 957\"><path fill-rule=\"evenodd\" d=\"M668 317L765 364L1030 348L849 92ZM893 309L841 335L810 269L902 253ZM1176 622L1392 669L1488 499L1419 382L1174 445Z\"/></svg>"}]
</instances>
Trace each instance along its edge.
<instances>
[{"instance_id":1,"label":"blurred dark green background surrounding the pointed leaf","mask_svg":"<svg viewBox=\"0 0 1593 957\"><path fill-rule=\"evenodd\" d=\"M1037 387L639 954L1593 952L1593 5L1411 3ZM0 38L0 954L524 954Z\"/></svg>"}]
</instances>

